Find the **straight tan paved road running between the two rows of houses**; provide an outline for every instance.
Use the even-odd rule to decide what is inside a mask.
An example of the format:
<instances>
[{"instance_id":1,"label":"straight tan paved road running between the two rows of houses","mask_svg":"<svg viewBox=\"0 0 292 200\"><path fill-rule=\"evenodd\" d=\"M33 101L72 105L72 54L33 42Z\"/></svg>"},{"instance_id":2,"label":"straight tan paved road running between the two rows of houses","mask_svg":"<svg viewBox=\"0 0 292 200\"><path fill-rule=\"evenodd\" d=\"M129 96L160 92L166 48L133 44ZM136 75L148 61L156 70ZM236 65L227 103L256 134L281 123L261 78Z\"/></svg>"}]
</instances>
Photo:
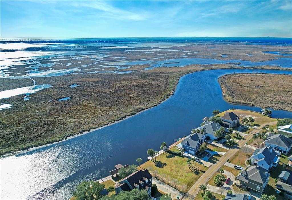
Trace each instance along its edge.
<instances>
[{"instance_id":1,"label":"straight tan paved road running between the two rows of houses","mask_svg":"<svg viewBox=\"0 0 292 200\"><path fill-rule=\"evenodd\" d=\"M266 124L274 125L274 124L277 124L277 122L270 122L270 123L266 123ZM240 140L238 143L239 148L243 147L244 144L253 137L253 134L258 132L266 124L263 124L263 125L259 126L258 128L254 129L253 131L251 131L251 133L249 133L248 135L246 135L246 137L244 137L245 140ZM220 158L219 162L211 165L211 167L209 167L209 169L207 169L207 171L204 174L202 174L202 176L198 179L198 181L196 181L196 183L194 183L194 185L187 192L187 194L185 195L185 197L183 199L184 200L194 199L197 196L197 194L199 194L199 185L206 184L209 181L209 179L212 178L212 176L215 174L215 172L217 172L218 169L220 169L228 159L231 159L232 156L234 156L234 154L237 153L239 148L230 149L228 152L226 152Z\"/></svg>"}]
</instances>

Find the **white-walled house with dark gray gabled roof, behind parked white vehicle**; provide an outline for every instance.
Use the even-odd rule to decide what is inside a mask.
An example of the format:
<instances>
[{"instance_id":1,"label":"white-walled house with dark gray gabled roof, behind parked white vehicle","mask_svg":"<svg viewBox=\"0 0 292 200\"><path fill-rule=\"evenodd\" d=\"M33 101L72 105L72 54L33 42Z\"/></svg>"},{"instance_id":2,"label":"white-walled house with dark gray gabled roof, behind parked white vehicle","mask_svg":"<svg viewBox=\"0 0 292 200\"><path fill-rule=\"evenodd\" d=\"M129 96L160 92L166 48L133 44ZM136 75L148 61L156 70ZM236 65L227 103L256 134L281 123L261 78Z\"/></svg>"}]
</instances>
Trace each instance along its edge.
<instances>
[{"instance_id":1,"label":"white-walled house with dark gray gabled roof, behind parked white vehicle","mask_svg":"<svg viewBox=\"0 0 292 200\"><path fill-rule=\"evenodd\" d=\"M256 149L251 156L251 164L258 165L264 169L270 170L276 167L279 163L280 157L272 147L264 147Z\"/></svg>"}]
</instances>

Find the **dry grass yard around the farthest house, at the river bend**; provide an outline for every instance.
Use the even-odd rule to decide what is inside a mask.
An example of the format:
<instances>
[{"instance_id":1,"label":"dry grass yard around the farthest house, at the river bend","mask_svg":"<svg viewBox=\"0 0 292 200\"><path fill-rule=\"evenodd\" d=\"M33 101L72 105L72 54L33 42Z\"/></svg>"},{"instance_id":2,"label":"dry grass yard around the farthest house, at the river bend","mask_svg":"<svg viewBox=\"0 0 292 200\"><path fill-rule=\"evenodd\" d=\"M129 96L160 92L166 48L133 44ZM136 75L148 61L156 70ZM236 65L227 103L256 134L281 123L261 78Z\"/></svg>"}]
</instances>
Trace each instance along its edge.
<instances>
[{"instance_id":1,"label":"dry grass yard around the farthest house, at the river bend","mask_svg":"<svg viewBox=\"0 0 292 200\"><path fill-rule=\"evenodd\" d=\"M277 122L277 119L275 119L275 118L267 117L267 116L264 116L260 113L255 113L255 112L248 111L248 110L226 110L226 111L235 113L236 115L239 116L240 119L242 119L244 117L248 118L250 116L253 117L255 119L255 121L252 123L252 126L260 126L262 124L269 123L269 122ZM220 117L223 116L226 111L219 113L218 116L220 116Z\"/></svg>"}]
</instances>

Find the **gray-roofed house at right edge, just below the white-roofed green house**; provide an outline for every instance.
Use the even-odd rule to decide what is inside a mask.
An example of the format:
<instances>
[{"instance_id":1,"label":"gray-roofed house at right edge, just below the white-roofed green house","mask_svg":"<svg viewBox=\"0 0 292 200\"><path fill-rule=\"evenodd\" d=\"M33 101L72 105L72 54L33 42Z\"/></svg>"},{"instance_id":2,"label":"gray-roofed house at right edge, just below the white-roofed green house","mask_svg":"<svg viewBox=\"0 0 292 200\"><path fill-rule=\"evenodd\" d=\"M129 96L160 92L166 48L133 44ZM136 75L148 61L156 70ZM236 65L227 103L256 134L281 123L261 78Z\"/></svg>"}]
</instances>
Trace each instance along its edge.
<instances>
[{"instance_id":1,"label":"gray-roofed house at right edge, just below the white-roofed green house","mask_svg":"<svg viewBox=\"0 0 292 200\"><path fill-rule=\"evenodd\" d=\"M285 155L290 151L291 145L292 140L281 134L272 135L265 140L266 147L272 147L275 151L280 151Z\"/></svg>"}]
</instances>

